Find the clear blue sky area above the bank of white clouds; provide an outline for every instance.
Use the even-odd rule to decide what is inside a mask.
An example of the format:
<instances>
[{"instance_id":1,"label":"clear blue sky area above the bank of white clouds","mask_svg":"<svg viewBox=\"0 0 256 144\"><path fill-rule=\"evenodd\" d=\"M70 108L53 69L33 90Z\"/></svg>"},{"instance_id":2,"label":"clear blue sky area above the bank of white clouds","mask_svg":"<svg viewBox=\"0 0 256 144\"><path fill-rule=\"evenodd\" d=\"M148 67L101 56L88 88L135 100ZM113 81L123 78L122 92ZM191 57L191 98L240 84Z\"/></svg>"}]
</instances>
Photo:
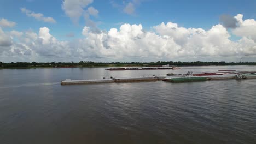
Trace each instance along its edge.
<instances>
[{"instance_id":1,"label":"clear blue sky area above the bank of white clouds","mask_svg":"<svg viewBox=\"0 0 256 144\"><path fill-rule=\"evenodd\" d=\"M68 15L65 8L62 7L64 1L47 1L47 0L9 0L0 1L0 19L6 19L15 22L12 27L2 27L3 31L33 31L38 33L39 29L46 27L50 34L59 41L77 41L84 39L82 31L85 26L98 31L107 32L110 28L117 28L124 23L130 25L141 24L143 31L154 31L154 27L160 25L161 22L177 23L178 27L184 28L202 28L205 31L210 30L213 26L221 22L219 17L223 14L231 17L237 14L243 15L243 20L256 18L256 1L202 1L202 0L180 0L180 1L164 1L164 0L84 0L91 1L83 8L83 13L78 22L74 22L73 18ZM131 3L132 8L125 11L127 5ZM79 4L79 3L78 3ZM80 3L81 4L81 3ZM98 11L97 14L89 14L89 18L84 18L86 10L92 7ZM51 17L54 22L45 22L22 13L21 8L25 8L30 13L43 14L43 17ZM74 12L74 10L73 10ZM92 21L95 26L88 25L88 21ZM230 40L240 40L243 35L234 34L234 29L226 28L230 34ZM158 32L156 32L158 34ZM69 35L69 37L67 36ZM168 34L167 34L168 35ZM246 35L245 35L246 36ZM248 36L248 35L247 35ZM251 35L252 36L252 35ZM251 37L250 36L250 37ZM18 38L14 38L18 39ZM13 42L14 43L14 42ZM19 41L16 41L19 43ZM27 60L30 61L30 60ZM130 60L129 60L130 61Z\"/></svg>"}]
</instances>

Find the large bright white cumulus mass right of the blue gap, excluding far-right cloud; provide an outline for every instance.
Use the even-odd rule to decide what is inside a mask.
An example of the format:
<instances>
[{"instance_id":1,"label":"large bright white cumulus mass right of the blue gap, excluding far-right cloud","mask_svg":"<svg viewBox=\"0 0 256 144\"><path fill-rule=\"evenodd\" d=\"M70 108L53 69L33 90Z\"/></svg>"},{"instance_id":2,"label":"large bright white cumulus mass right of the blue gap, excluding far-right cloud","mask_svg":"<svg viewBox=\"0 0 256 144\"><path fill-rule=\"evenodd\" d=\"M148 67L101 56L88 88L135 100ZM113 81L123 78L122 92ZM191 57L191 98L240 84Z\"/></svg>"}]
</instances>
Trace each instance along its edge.
<instances>
[{"instance_id":1,"label":"large bright white cumulus mass right of the blue gap, excluding far-right cloud","mask_svg":"<svg viewBox=\"0 0 256 144\"><path fill-rule=\"evenodd\" d=\"M236 49L230 47L230 35L222 25L213 26L209 31L203 29L178 27L176 23L161 23L154 27L156 32L146 32L142 25L124 24L120 29L108 32L91 33L84 28L83 46L78 48L82 57L156 57L174 58L185 56L235 55ZM180 33L180 30L183 32ZM163 33L164 32L164 33ZM182 41L182 44L180 44ZM229 46L229 47L227 47ZM88 47L91 47L88 49ZM232 51L231 51L232 50ZM228 54L227 54L228 52Z\"/></svg>"}]
</instances>

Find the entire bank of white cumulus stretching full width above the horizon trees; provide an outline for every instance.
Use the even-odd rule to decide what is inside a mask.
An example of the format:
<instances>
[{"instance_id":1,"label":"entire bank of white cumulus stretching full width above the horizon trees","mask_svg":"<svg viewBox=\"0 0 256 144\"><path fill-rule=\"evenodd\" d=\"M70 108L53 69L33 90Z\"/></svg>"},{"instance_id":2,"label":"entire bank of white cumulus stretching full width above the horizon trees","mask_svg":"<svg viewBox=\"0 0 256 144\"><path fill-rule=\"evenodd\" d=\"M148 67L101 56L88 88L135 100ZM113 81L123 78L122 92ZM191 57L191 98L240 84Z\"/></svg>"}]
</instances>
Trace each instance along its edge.
<instances>
[{"instance_id":1,"label":"entire bank of white cumulus stretching full width above the horizon trees","mask_svg":"<svg viewBox=\"0 0 256 144\"><path fill-rule=\"evenodd\" d=\"M9 43L1 42L5 49L2 49L0 55L54 58L60 59L59 61L217 61L216 58L220 61L236 61L236 57L255 57L254 33L240 32L247 26L255 27L255 20L243 20L241 15L237 15L236 19L238 26L232 32L241 35L241 39L237 41L230 40L229 32L220 24L206 30L162 22L152 27L151 31L146 31L142 25L125 23L120 28L98 33L85 26L82 29L84 38L74 41L57 40L47 27L40 28L38 33L24 32L19 41L11 40L8 34L21 33L1 30L0 39L4 38Z\"/></svg>"}]
</instances>

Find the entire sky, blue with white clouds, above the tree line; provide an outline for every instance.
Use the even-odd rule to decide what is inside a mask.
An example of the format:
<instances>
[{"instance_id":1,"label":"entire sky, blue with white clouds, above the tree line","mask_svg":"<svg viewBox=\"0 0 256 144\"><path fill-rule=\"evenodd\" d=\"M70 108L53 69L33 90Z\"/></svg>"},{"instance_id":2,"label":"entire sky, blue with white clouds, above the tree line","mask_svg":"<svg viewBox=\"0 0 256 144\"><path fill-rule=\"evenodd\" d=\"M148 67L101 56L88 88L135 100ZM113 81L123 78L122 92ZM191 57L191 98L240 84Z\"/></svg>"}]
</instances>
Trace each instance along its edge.
<instances>
[{"instance_id":1,"label":"entire sky, blue with white clouds, above the tree line","mask_svg":"<svg viewBox=\"0 0 256 144\"><path fill-rule=\"evenodd\" d=\"M255 0L3 0L2 62L256 62Z\"/></svg>"}]
</instances>

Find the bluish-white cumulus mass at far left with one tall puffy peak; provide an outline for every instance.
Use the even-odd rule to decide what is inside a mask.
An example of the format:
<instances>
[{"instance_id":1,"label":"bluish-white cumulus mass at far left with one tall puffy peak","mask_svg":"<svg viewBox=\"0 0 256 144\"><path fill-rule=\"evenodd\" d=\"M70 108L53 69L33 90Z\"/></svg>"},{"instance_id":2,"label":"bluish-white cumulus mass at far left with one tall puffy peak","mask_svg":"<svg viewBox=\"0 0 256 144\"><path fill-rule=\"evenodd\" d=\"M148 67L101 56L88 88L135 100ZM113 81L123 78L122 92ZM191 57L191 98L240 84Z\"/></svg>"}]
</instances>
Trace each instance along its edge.
<instances>
[{"instance_id":1,"label":"bluish-white cumulus mass at far left with one tall puffy peak","mask_svg":"<svg viewBox=\"0 0 256 144\"><path fill-rule=\"evenodd\" d=\"M12 40L10 37L11 35L19 36L21 34L23 37L20 37L18 40ZM70 51L72 51L72 47L69 47L69 44L70 42L68 41L59 41L53 37L50 34L50 29L47 27L41 27L38 34L32 31L4 33L0 29L0 56L2 58L19 58L20 61L35 61L39 58L44 59L44 61L49 58L65 59L71 56ZM34 59L30 60L32 58ZM0 58L0 61L4 60L7 61Z\"/></svg>"}]
</instances>

